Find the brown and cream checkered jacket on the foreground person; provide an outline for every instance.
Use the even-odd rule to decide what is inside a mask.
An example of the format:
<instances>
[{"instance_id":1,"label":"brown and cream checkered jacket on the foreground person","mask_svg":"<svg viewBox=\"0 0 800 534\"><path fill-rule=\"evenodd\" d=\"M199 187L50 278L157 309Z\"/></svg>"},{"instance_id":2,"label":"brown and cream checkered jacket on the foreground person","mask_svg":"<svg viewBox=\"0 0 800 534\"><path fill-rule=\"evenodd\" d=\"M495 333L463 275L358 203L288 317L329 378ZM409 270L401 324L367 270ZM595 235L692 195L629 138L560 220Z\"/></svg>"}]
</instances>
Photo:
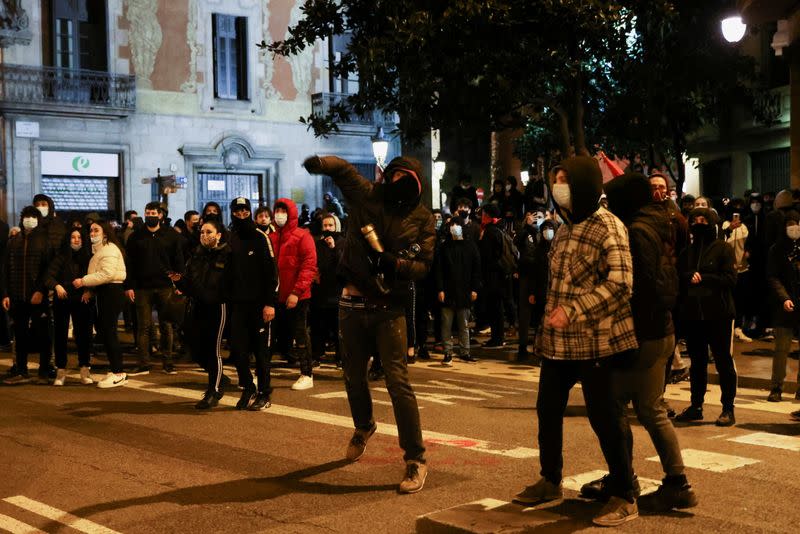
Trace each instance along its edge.
<instances>
[{"instance_id":1,"label":"brown and cream checkered jacket on the foreground person","mask_svg":"<svg viewBox=\"0 0 800 534\"><path fill-rule=\"evenodd\" d=\"M632 287L633 263L622 221L600 208L578 224L561 225L550 249L550 287L537 354L590 360L637 348ZM563 329L546 324L558 306L569 318Z\"/></svg>"}]
</instances>

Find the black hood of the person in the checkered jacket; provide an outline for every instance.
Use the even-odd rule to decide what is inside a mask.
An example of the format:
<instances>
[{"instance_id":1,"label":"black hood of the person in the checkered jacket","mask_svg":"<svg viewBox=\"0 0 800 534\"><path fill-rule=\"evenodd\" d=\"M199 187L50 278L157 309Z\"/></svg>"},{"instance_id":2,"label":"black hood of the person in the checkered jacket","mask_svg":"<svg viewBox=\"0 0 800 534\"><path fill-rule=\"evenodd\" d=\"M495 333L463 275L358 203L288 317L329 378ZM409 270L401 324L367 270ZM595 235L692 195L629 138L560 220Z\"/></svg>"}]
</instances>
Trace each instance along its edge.
<instances>
[{"instance_id":1,"label":"black hood of the person in the checkered jacket","mask_svg":"<svg viewBox=\"0 0 800 534\"><path fill-rule=\"evenodd\" d=\"M562 219L570 224L578 224L597 211L600 195L603 193L603 173L596 159L589 156L573 156L561 161L553 170L553 183L558 170L566 171L572 197L571 210L555 205ZM550 186L552 189L552 183Z\"/></svg>"}]
</instances>

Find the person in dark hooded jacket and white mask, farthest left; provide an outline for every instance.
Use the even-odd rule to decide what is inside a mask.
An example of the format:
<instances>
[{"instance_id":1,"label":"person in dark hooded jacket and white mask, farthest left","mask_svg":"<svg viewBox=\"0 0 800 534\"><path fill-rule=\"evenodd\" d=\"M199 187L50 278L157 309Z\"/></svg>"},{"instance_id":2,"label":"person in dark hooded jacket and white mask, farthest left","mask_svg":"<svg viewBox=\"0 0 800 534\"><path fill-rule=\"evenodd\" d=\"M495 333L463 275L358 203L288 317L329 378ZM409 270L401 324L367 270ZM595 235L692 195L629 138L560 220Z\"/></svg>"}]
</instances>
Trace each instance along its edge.
<instances>
[{"instance_id":1,"label":"person in dark hooded jacket and white mask, farthest left","mask_svg":"<svg viewBox=\"0 0 800 534\"><path fill-rule=\"evenodd\" d=\"M21 231L8 241L0 293L3 308L14 322L14 351L16 361L13 373L3 383L27 384L28 353L36 346L39 351L39 377L37 383L49 383L49 346L40 343L45 321L37 320L47 314L47 266L50 262L50 242L47 233L39 228L42 214L33 206L25 206L20 213ZM49 339L49 336L48 336Z\"/></svg>"}]
</instances>

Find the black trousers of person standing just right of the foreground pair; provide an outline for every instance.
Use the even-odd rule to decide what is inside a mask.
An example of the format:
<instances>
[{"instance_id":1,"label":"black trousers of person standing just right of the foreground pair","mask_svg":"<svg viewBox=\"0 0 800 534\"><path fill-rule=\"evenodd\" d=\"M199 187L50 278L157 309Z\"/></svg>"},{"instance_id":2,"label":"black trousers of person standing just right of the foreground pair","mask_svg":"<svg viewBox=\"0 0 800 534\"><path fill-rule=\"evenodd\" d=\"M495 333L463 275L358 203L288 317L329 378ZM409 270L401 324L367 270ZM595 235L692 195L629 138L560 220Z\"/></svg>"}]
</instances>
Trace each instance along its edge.
<instances>
[{"instance_id":1,"label":"black trousers of person standing just right of the foreground pair","mask_svg":"<svg viewBox=\"0 0 800 534\"><path fill-rule=\"evenodd\" d=\"M689 369L692 406L703 406L708 387L708 349L714 354L714 366L719 375L722 409L733 410L738 376L733 363L733 320L686 321L686 348L692 359Z\"/></svg>"}]
</instances>

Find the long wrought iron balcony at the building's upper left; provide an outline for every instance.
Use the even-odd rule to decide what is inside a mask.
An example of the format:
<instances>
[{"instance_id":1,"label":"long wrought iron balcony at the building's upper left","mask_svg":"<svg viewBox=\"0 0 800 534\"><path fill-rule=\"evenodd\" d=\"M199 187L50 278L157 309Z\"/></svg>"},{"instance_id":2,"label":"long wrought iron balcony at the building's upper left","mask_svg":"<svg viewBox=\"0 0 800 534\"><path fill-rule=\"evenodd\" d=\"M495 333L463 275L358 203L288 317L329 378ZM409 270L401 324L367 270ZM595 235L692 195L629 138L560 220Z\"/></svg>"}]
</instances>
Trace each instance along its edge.
<instances>
[{"instance_id":1,"label":"long wrought iron balcony at the building's upper left","mask_svg":"<svg viewBox=\"0 0 800 534\"><path fill-rule=\"evenodd\" d=\"M90 70L0 64L0 110L127 117L136 111L136 78Z\"/></svg>"}]
</instances>

